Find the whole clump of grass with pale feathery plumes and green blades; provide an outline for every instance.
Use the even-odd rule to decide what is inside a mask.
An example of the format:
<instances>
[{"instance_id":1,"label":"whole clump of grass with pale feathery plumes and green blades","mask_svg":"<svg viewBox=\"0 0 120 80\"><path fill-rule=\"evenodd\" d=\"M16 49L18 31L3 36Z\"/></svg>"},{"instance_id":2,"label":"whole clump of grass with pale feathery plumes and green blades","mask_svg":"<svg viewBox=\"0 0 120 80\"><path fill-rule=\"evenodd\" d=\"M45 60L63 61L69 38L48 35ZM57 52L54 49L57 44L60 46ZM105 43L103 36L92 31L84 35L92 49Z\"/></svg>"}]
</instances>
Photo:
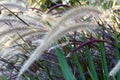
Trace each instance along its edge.
<instances>
[{"instance_id":1,"label":"whole clump of grass with pale feathery plumes and green blades","mask_svg":"<svg viewBox=\"0 0 120 80\"><path fill-rule=\"evenodd\" d=\"M113 68L119 60L119 10L114 9L115 5L104 11L93 6L57 4L44 12L38 4L1 4L0 25L6 28L0 32L2 74L8 79L30 79L31 75L49 80L110 80L110 76L120 79L119 73L111 75L119 70L119 63ZM28 12L14 12L8 6Z\"/></svg>"}]
</instances>

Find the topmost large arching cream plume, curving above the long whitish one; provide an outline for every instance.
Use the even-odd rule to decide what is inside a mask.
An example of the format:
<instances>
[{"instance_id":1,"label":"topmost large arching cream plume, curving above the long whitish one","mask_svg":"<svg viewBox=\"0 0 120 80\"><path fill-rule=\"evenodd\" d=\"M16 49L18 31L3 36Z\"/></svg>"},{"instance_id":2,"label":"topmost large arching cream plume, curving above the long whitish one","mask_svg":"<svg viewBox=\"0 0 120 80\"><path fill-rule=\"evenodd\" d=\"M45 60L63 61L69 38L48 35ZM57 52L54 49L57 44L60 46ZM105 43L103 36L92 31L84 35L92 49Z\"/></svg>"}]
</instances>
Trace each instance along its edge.
<instances>
[{"instance_id":1,"label":"topmost large arching cream plume, curving above the long whitish one","mask_svg":"<svg viewBox=\"0 0 120 80\"><path fill-rule=\"evenodd\" d=\"M90 13L94 13L94 16L95 14L101 14L102 12L99 11L98 9L96 8L93 8L93 7L78 7L78 8L75 8L75 9L72 9L70 11L68 11L66 14L64 14L54 25L53 29L48 33L48 35L46 37L49 37L51 36L52 34L54 34L54 32L56 30L59 30L60 27L62 27L62 25L64 27L69 27L71 25L66 25L67 23L66 20L76 16L76 15L79 15L79 16L84 16L85 14L90 14ZM68 21L69 22L69 21ZM69 23L68 23L69 24ZM46 38L47 40L47 38ZM45 40L45 41L46 41Z\"/></svg>"}]
</instances>

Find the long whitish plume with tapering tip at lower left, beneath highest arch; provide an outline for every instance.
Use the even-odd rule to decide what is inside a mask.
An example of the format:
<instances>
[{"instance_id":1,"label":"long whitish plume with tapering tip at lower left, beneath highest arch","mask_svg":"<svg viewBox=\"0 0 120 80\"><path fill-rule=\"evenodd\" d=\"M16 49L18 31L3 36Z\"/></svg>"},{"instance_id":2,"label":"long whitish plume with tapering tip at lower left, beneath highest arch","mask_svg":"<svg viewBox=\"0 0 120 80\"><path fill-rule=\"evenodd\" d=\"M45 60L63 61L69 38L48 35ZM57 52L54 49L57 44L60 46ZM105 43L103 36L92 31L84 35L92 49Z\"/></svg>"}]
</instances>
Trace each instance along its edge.
<instances>
[{"instance_id":1,"label":"long whitish plume with tapering tip at lower left, beneath highest arch","mask_svg":"<svg viewBox=\"0 0 120 80\"><path fill-rule=\"evenodd\" d=\"M64 34L66 34L67 32L70 32L70 31L76 31L78 29L80 30L86 30L86 28L88 29L94 29L95 28L95 24L84 24L84 23L81 23L81 24L77 24L77 25L73 25L71 27L68 27L68 28L63 28L63 29L59 29L59 31L55 34L53 34L54 37L50 37L49 40L47 41L43 41L40 46L37 47L37 49L34 51L34 53L30 56L30 58L25 62L25 64L23 65L22 69L20 70L20 73L18 75L21 76L21 74L27 70L27 68L36 60L39 58L39 56L41 54L44 53L44 50L46 50L47 48L50 47L50 43L52 41L55 41L57 39L59 39L61 36L63 36Z\"/></svg>"}]
</instances>

